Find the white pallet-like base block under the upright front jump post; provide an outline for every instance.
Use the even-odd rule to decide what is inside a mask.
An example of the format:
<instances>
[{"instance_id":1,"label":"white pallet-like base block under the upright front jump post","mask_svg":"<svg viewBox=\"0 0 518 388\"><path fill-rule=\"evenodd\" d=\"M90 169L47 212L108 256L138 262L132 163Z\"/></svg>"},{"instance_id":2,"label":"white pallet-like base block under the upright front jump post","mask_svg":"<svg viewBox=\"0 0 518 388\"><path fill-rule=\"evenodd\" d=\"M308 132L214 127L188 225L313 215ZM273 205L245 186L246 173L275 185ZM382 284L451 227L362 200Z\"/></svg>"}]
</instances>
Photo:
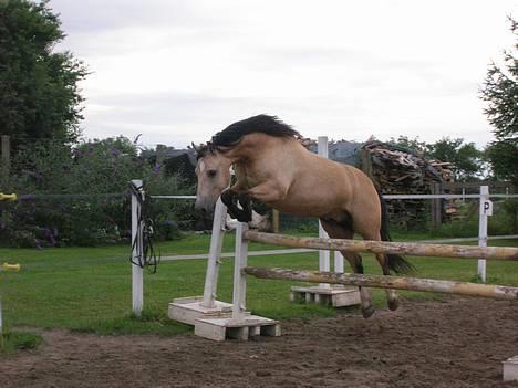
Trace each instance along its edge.
<instances>
[{"instance_id":1,"label":"white pallet-like base block under the upright front jump post","mask_svg":"<svg viewBox=\"0 0 518 388\"><path fill-rule=\"evenodd\" d=\"M250 337L279 337L280 325L277 321L257 315L247 315L244 319L201 318L195 324L195 335L207 339L222 342L229 338L248 340Z\"/></svg>"}]
</instances>

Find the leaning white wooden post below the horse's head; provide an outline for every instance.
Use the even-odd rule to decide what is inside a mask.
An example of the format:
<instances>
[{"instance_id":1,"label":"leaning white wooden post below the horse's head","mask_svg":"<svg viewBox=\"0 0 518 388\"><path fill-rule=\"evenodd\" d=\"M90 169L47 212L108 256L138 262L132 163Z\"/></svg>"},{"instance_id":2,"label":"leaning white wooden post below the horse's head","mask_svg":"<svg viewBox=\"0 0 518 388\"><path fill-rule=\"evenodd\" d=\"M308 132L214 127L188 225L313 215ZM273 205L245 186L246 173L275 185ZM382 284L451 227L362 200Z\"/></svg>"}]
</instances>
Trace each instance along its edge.
<instances>
[{"instance_id":1,"label":"leaning white wooden post below the horse's head","mask_svg":"<svg viewBox=\"0 0 518 388\"><path fill-rule=\"evenodd\" d=\"M225 219L227 207L218 198L214 211L213 234L210 238L210 251L207 260L207 273L205 275L205 289L201 306L207 308L216 307L215 300L218 289L219 264L221 263L221 248L225 238Z\"/></svg>"}]
</instances>

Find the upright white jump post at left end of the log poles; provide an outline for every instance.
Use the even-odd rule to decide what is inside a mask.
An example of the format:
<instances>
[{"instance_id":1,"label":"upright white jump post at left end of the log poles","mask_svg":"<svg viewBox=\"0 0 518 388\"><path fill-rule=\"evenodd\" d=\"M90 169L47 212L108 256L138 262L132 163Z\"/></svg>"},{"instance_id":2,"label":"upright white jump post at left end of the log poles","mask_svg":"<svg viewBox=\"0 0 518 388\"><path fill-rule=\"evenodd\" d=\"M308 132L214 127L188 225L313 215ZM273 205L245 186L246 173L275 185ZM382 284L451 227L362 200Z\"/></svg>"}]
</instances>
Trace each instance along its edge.
<instances>
[{"instance_id":1,"label":"upright white jump post at left end of the log poles","mask_svg":"<svg viewBox=\"0 0 518 388\"><path fill-rule=\"evenodd\" d=\"M236 229L236 256L234 259L234 295L232 295L232 319L245 321L247 310L247 275L241 269L248 264L248 240L244 232L248 230L248 223L239 222Z\"/></svg>"}]
</instances>

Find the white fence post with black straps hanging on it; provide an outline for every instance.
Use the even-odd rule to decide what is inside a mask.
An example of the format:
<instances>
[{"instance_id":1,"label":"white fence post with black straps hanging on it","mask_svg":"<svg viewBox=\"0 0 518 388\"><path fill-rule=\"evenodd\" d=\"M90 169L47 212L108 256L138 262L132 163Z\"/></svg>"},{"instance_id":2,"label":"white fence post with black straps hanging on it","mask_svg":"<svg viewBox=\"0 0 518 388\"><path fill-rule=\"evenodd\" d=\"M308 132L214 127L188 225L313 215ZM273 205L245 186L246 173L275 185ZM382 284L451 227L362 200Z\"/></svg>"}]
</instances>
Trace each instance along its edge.
<instances>
[{"instance_id":1,"label":"white fence post with black straps hanging on it","mask_svg":"<svg viewBox=\"0 0 518 388\"><path fill-rule=\"evenodd\" d=\"M142 188L142 180L134 179L132 183L137 187ZM138 195L143 195L143 189L138 190ZM132 192L132 244L133 245L133 262L138 263L142 260L142 244L143 244L143 235L142 235L142 228L138 228L138 219L141 218L141 203L134 192ZM142 226L141 226L142 227ZM138 230L141 233L138 233ZM138 233L138 235L137 235ZM136 242L136 243L135 243ZM133 314L135 316L142 315L142 308L144 306L144 270L132 263L132 306L133 306Z\"/></svg>"}]
</instances>

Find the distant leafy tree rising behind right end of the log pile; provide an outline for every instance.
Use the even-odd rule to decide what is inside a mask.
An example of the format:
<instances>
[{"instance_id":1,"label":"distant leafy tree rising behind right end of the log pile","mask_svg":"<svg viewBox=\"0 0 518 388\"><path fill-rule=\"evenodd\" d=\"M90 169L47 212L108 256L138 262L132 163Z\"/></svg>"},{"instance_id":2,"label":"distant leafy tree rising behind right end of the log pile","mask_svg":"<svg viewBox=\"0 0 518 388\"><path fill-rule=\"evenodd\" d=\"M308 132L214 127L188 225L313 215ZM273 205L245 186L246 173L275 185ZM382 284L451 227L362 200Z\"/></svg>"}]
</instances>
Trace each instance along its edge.
<instances>
[{"instance_id":1,"label":"distant leafy tree rising behind right end of the log pile","mask_svg":"<svg viewBox=\"0 0 518 388\"><path fill-rule=\"evenodd\" d=\"M454 165L457 180L474 180L483 171L483 153L474 143L464 143L462 138L443 137L434 144L427 145L427 158L449 161Z\"/></svg>"}]
</instances>

